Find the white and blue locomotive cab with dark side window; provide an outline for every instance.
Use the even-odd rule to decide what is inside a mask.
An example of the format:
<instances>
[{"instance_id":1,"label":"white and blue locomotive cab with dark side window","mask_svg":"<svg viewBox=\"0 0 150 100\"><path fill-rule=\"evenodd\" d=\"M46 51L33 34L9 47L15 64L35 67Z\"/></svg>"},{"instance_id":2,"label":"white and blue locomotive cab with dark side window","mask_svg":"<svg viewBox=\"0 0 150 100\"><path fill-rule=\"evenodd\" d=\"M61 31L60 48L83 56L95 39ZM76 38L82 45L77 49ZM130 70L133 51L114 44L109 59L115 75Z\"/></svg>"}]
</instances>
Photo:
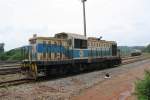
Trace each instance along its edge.
<instances>
[{"instance_id":1,"label":"white and blue locomotive cab with dark side window","mask_svg":"<svg viewBox=\"0 0 150 100\"><path fill-rule=\"evenodd\" d=\"M56 34L55 37L68 41L71 59L85 59L88 57L87 38L85 36L63 32Z\"/></svg>"}]
</instances>

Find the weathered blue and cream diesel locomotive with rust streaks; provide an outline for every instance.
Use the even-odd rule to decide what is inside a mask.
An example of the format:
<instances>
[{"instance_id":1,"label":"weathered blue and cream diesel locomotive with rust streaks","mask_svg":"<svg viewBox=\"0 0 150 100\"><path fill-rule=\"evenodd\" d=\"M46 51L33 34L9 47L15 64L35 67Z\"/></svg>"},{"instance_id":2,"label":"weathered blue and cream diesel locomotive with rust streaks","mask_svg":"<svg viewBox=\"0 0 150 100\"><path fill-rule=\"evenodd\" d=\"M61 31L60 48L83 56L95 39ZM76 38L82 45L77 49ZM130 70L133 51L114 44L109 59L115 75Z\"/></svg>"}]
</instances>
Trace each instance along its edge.
<instances>
[{"instance_id":1,"label":"weathered blue and cream diesel locomotive with rust streaks","mask_svg":"<svg viewBox=\"0 0 150 100\"><path fill-rule=\"evenodd\" d=\"M121 63L115 41L65 32L54 37L33 36L23 51L22 70L34 79L40 75L109 68Z\"/></svg>"}]
</instances>

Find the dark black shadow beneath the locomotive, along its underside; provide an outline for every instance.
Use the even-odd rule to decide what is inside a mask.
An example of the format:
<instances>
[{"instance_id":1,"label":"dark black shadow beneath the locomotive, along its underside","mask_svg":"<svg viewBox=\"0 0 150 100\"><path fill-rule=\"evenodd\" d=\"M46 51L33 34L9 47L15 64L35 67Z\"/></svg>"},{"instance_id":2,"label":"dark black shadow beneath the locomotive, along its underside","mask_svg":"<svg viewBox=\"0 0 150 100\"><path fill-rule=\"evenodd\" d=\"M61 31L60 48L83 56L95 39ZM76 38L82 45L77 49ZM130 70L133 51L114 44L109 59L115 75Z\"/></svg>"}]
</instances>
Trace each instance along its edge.
<instances>
[{"instance_id":1,"label":"dark black shadow beneath the locomotive, along its underside","mask_svg":"<svg viewBox=\"0 0 150 100\"><path fill-rule=\"evenodd\" d=\"M118 64L117 64L118 66ZM87 65L88 68L84 69L84 70L80 70L80 69L76 69L74 68L74 70L71 70L71 69L66 69L66 67L64 66L65 68L65 72L63 73L60 73L60 72L56 72L56 73L51 73L51 72L47 72L48 75L44 75L44 76L39 76L36 78L36 81L35 82L43 82L43 81L49 81L49 80L57 80L57 79L61 79L61 78L67 78L67 77L70 77L70 76L76 76L76 75L81 75L81 74L86 74L86 73L90 73L90 72L96 72L96 71L99 71L99 70L103 70L103 69L108 69L108 68L114 68L116 67L116 65L102 65L102 64L90 64L90 65ZM51 73L51 74L49 74Z\"/></svg>"}]
</instances>

